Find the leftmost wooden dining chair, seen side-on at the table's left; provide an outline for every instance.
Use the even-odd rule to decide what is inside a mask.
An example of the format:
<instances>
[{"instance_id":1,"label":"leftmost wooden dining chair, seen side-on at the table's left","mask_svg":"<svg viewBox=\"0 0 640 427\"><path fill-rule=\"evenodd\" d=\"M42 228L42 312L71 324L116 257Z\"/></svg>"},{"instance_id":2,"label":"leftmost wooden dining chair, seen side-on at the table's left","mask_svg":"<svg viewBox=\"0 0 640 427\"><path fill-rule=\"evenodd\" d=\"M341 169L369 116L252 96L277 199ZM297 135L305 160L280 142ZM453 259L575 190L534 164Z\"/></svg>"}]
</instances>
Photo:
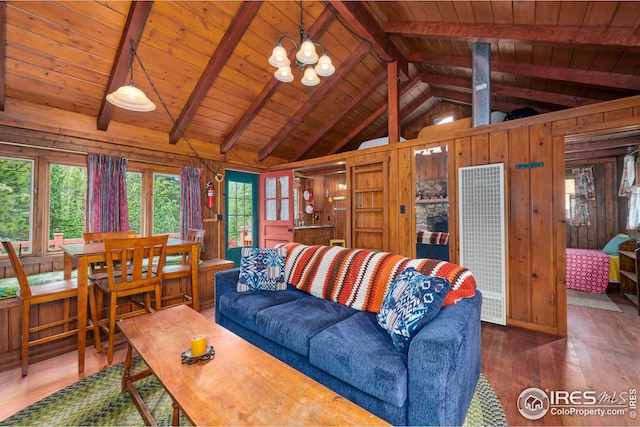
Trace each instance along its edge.
<instances>
[{"instance_id":1,"label":"leftmost wooden dining chair, seen side-on at the table's left","mask_svg":"<svg viewBox=\"0 0 640 427\"><path fill-rule=\"evenodd\" d=\"M78 316L71 315L71 300L78 297L78 282L76 279L56 280L42 285L31 287L27 280L27 275L22 266L22 262L16 254L13 244L7 240L2 241L2 247L9 255L11 267L18 279L20 292L18 297L22 302L22 376L27 375L29 365L29 348L45 344L51 341L60 340L78 334ZM89 295L93 294L93 287L89 285ZM63 300L62 319L44 322L45 316L35 315L31 317L31 309L38 305L53 301ZM77 305L77 304L76 304ZM98 329L98 316L94 305L90 305L90 322L87 332L93 331L94 338L100 341L100 330ZM32 320L37 322L31 325ZM33 336L33 337L32 337Z\"/></svg>"}]
</instances>

